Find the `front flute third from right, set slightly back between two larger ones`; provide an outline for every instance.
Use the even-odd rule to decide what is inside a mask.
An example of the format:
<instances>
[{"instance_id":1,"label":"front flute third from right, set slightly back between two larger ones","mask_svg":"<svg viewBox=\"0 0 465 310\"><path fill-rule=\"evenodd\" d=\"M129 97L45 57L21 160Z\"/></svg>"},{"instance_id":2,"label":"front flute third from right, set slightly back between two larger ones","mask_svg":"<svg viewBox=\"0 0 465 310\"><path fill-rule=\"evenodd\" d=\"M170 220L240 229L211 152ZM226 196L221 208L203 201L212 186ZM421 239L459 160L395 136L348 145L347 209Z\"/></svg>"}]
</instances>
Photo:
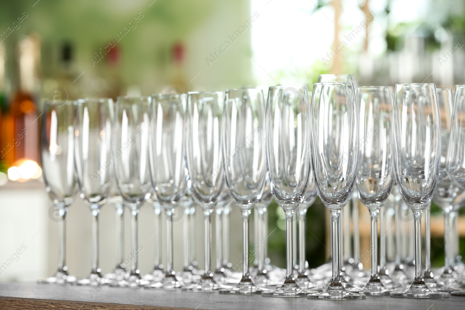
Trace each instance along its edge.
<instances>
[{"instance_id":1,"label":"front flute third from right, set slightly back between two larger ones","mask_svg":"<svg viewBox=\"0 0 465 310\"><path fill-rule=\"evenodd\" d=\"M392 188L392 87L357 87L356 96L360 113L360 161L356 182L359 199L370 212L372 273L362 289L353 291L366 295L389 295L378 274L377 222L379 211L384 208ZM381 235L381 240L384 237Z\"/></svg>"}]
</instances>

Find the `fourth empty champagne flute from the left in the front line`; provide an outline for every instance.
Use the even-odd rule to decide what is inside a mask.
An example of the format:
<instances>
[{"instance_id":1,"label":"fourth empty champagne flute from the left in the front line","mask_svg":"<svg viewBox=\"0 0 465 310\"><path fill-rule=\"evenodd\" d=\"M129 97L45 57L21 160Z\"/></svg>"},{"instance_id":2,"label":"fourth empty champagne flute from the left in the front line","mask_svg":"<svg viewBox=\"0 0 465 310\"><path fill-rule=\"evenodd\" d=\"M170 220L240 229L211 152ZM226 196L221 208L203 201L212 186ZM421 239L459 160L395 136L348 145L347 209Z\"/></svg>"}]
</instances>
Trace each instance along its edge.
<instances>
[{"instance_id":1,"label":"fourth empty champagne flute from the left in the front line","mask_svg":"<svg viewBox=\"0 0 465 310\"><path fill-rule=\"evenodd\" d=\"M149 113L150 179L166 216L166 270L162 280L165 289L182 286L173 269L173 221L176 211L183 211L179 203L187 185L184 143L186 98L186 94L153 95Z\"/></svg>"}]
</instances>

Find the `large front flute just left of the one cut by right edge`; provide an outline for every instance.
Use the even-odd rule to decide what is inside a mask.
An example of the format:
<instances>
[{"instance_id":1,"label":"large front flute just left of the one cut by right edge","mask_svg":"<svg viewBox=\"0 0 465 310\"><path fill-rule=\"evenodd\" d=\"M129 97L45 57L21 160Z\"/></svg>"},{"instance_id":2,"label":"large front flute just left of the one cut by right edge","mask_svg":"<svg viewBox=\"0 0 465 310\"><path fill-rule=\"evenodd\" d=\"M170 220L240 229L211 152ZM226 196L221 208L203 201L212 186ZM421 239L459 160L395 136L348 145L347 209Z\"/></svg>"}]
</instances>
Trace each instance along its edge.
<instances>
[{"instance_id":1,"label":"large front flute just left of the one cut by right edge","mask_svg":"<svg viewBox=\"0 0 465 310\"><path fill-rule=\"evenodd\" d=\"M421 264L421 215L438 183L441 124L436 86L429 83L397 84L393 108L393 155L400 195L413 211L415 278L407 290L392 297L441 298L447 293L429 289Z\"/></svg>"}]
</instances>

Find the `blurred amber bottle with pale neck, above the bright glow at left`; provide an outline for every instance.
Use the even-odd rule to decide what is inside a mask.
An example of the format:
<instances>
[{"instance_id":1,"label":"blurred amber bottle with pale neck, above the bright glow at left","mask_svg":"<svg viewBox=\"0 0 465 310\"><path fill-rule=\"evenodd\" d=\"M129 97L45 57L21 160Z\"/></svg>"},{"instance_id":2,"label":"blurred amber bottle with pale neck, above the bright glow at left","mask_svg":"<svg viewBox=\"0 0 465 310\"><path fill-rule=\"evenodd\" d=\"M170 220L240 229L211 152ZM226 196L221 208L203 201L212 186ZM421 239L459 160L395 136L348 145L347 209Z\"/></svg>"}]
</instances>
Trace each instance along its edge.
<instances>
[{"instance_id":1,"label":"blurred amber bottle with pale neck, above the bright glow at left","mask_svg":"<svg viewBox=\"0 0 465 310\"><path fill-rule=\"evenodd\" d=\"M4 160L8 169L8 178L25 181L41 175L39 163L38 113L35 92L40 79L40 39L32 34L18 43L18 84L12 96L12 103L6 122L3 149L7 147Z\"/></svg>"}]
</instances>

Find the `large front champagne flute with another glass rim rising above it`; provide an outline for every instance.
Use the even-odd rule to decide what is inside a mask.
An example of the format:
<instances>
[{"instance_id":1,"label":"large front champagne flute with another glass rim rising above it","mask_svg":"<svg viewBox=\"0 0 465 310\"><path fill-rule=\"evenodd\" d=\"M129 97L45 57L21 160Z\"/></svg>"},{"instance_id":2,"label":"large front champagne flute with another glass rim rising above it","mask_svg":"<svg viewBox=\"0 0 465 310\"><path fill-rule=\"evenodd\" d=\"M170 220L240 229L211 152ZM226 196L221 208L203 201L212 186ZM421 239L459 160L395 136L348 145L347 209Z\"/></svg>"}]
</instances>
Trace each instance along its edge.
<instances>
[{"instance_id":1,"label":"large front champagne flute with another glass rim rising above it","mask_svg":"<svg viewBox=\"0 0 465 310\"><path fill-rule=\"evenodd\" d=\"M353 84L315 83L312 93L312 169L321 201L331 213L332 279L311 299L362 299L345 290L339 275L340 211L352 197L359 165L359 114Z\"/></svg>"}]
</instances>

